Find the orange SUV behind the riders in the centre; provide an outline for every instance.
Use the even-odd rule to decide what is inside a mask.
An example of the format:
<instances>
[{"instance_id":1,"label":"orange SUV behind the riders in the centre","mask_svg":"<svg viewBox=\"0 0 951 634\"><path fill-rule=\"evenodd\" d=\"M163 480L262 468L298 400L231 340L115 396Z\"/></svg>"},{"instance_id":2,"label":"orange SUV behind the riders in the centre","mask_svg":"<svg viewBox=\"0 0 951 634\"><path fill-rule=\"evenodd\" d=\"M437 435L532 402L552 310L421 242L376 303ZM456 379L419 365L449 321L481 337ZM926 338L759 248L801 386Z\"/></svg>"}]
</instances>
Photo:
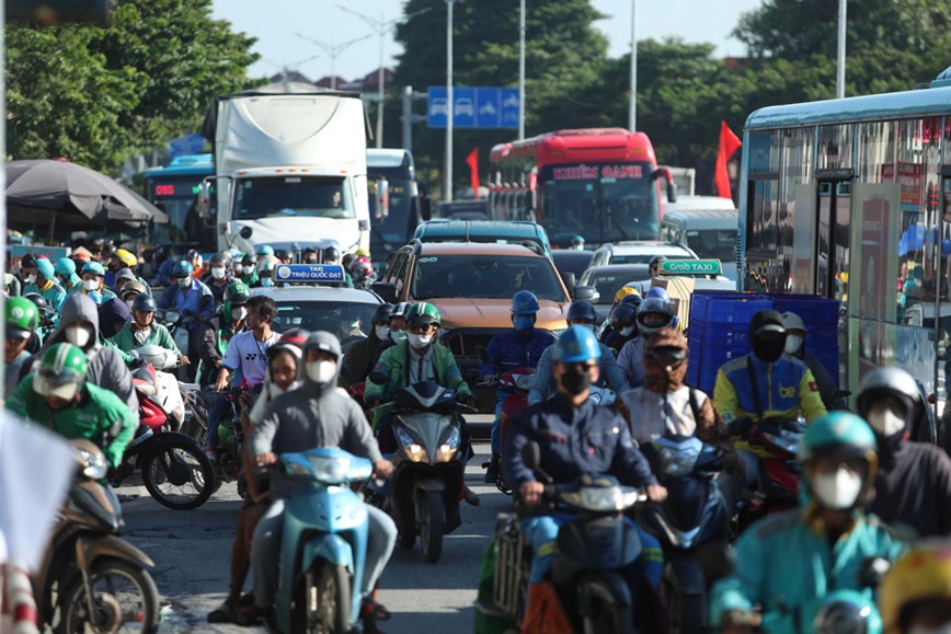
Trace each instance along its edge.
<instances>
[{"instance_id":1,"label":"orange SUV behind the riders in the centre","mask_svg":"<svg viewBox=\"0 0 951 634\"><path fill-rule=\"evenodd\" d=\"M423 243L397 252L374 285L386 301L427 301L439 310L439 342L449 347L471 388L479 380L478 346L512 327L512 296L530 290L541 309L535 327L562 331L571 302L551 260L540 247L474 242ZM484 404L489 400L481 399ZM494 400L492 401L494 402Z\"/></svg>"}]
</instances>

